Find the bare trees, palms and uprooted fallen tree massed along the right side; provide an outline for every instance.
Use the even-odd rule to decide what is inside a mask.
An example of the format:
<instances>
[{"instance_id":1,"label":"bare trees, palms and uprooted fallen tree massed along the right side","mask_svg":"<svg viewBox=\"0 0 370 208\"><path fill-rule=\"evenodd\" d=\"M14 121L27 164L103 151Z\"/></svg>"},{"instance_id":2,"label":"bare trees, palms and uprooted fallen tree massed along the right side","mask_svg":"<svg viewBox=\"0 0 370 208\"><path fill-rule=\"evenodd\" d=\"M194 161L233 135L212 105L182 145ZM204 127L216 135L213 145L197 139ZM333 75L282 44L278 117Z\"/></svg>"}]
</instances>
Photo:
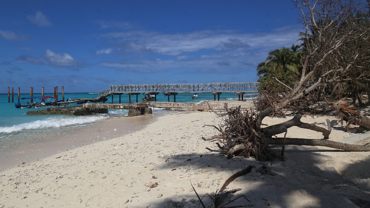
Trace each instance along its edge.
<instances>
[{"instance_id":1,"label":"bare trees, palms and uprooted fallen tree massed along the right side","mask_svg":"<svg viewBox=\"0 0 370 208\"><path fill-rule=\"evenodd\" d=\"M351 97L353 105L366 107L370 94L370 2L367 1L312 1L293 0L300 11L300 22L305 31L301 45L271 51L258 64L260 94L255 100L256 111L228 108L223 116L220 132L206 141L216 141L216 151L232 158L255 157L266 161L283 160L285 145L325 146L349 151L370 151L369 145L349 145L329 141L331 124L327 129L300 121L304 112L318 105L329 104L348 124L370 128L370 119L350 110L344 97ZM334 103L335 101L335 103ZM312 107L313 106L313 107ZM286 122L263 127L267 116L283 116L287 110L296 115ZM324 111L327 112L324 107ZM330 110L330 111L332 111ZM286 138L293 126L322 132L322 139ZM274 137L285 133L284 137ZM280 154L270 144L282 145Z\"/></svg>"}]
</instances>

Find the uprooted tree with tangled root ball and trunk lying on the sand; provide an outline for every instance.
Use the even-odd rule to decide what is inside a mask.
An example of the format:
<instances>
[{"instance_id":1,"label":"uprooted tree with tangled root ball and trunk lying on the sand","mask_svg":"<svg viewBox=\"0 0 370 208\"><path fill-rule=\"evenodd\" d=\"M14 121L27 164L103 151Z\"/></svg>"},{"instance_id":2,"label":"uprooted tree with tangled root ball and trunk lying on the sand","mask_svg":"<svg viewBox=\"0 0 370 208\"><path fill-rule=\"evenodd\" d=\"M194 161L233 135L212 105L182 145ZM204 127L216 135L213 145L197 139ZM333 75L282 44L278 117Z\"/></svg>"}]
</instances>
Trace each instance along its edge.
<instances>
[{"instance_id":1,"label":"uprooted tree with tangled root ball and trunk lying on the sand","mask_svg":"<svg viewBox=\"0 0 370 208\"><path fill-rule=\"evenodd\" d=\"M262 120L273 112L272 107L266 108L259 114L255 114L252 109L242 110L239 107L228 108L225 103L225 112L217 115L223 117L223 124L216 127L211 126L220 132L211 138L203 138L205 141L216 142L218 149L206 148L209 151L220 152L228 156L228 159L240 157L255 157L257 160L266 161L279 158L284 160L283 151L279 155L271 151L270 145L309 145L331 147L347 151L370 151L369 145L350 145L341 142L329 141L331 126L327 120L328 129L316 126L316 123L307 124L300 121L302 114L296 114L291 120L280 124L262 128ZM303 139L303 138L273 138L274 135L287 132L288 128L297 126L317 132L322 132L322 139Z\"/></svg>"}]
</instances>

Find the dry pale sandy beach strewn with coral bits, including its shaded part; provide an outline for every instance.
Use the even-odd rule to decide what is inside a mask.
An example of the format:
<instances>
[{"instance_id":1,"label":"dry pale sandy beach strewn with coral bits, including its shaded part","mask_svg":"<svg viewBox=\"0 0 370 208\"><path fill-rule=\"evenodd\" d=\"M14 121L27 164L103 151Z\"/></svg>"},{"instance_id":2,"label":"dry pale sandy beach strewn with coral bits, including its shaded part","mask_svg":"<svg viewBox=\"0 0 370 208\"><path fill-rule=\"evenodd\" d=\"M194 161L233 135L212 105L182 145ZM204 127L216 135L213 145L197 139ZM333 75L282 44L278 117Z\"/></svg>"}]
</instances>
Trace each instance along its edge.
<instances>
[{"instance_id":1,"label":"dry pale sandy beach strewn with coral bits, including its shaded part","mask_svg":"<svg viewBox=\"0 0 370 208\"><path fill-rule=\"evenodd\" d=\"M144 115L150 117L152 115ZM303 117L305 123L334 117ZM120 128L120 119L99 125L100 134ZM216 192L235 172L266 165L277 175L252 172L227 187L242 188L231 197L245 195L254 207L356 207L348 197L370 198L370 153L327 147L289 145L286 161L260 162L209 152L215 144L204 137L218 134L212 127L220 118L212 112L174 113L158 117L144 129L62 151L38 161L0 171L0 208L8 207L201 207L194 185L207 207ZM272 125L285 121L265 118ZM95 127L96 128L96 127ZM329 140L351 135L333 128ZM88 135L89 137L91 135ZM73 135L71 135L73 137ZM94 134L94 137L97 135ZM318 132L289 128L287 137L322 138ZM1 161L3 162L3 161ZM158 185L157 185L157 184ZM157 185L157 186L156 186ZM239 198L233 205L249 205ZM231 204L225 207L230 207Z\"/></svg>"}]
</instances>

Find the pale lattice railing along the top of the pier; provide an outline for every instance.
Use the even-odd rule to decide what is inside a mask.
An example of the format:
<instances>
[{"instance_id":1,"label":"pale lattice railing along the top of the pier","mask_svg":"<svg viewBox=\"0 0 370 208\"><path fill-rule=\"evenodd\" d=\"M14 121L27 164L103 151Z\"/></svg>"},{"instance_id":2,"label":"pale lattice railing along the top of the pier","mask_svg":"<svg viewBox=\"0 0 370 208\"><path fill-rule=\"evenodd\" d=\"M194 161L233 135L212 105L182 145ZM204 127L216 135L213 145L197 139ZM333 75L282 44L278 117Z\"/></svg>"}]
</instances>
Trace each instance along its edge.
<instances>
[{"instance_id":1,"label":"pale lattice railing along the top of the pier","mask_svg":"<svg viewBox=\"0 0 370 208\"><path fill-rule=\"evenodd\" d=\"M111 85L110 88L100 91L99 96L110 93L149 93L149 92L182 92L182 93L210 93L219 92L256 92L259 82L245 83L205 83L205 84L128 84Z\"/></svg>"}]
</instances>

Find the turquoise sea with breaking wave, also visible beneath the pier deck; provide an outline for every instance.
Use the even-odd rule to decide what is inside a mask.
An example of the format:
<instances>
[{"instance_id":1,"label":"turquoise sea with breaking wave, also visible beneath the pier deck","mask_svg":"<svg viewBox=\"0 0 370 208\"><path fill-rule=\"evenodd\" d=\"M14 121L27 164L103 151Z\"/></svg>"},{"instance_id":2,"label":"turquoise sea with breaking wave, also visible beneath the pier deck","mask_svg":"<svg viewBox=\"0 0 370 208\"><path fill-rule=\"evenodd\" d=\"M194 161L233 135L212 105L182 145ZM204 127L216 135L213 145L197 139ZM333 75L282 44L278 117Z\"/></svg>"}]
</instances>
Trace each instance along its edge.
<instances>
[{"instance_id":1,"label":"turquoise sea with breaking wave, also visible beneath the pier deck","mask_svg":"<svg viewBox=\"0 0 370 208\"><path fill-rule=\"evenodd\" d=\"M45 95L53 96L53 93L45 93ZM202 100L213 100L211 93L199 93L197 99L191 99L191 93L181 93L176 95L176 102L199 102ZM20 97L29 97L30 94L21 94ZM41 96L41 93L34 93L33 96ZM62 97L61 93L58 94L59 98ZM138 95L140 98L144 95ZM252 100L255 96L254 93L245 94L246 100ZM64 99L68 98L96 98L97 93L65 93ZM217 97L216 97L217 98ZM239 98L236 93L222 93L220 101L237 101ZM14 103L18 101L18 95L14 94ZM36 100L38 98L35 98ZM170 101L173 101L173 96ZM131 96L131 101L136 101L136 96ZM163 93L157 95L158 102L167 102L168 98ZM11 102L11 95L10 95ZM22 100L20 100L21 104ZM121 95L121 103L128 103L128 95ZM51 134L53 132L68 131L70 128L78 128L84 125L91 125L103 121L112 116L125 116L128 110L109 110L108 114L91 114L87 116L74 116L74 115L26 115L28 110L37 110L37 108L16 108L14 103L8 103L8 94L0 94L0 147L6 145L13 146L18 142L23 142L27 138L38 138L38 134ZM108 97L106 103L111 103L111 97ZM114 96L114 103L119 103L119 96ZM68 105L75 106L76 104ZM46 108L46 107L43 107ZM41 108L40 108L41 109ZM167 111L168 112L168 111ZM170 111L172 112L172 111ZM166 113L161 109L153 109L154 114ZM9 147L12 148L12 147Z\"/></svg>"}]
</instances>

